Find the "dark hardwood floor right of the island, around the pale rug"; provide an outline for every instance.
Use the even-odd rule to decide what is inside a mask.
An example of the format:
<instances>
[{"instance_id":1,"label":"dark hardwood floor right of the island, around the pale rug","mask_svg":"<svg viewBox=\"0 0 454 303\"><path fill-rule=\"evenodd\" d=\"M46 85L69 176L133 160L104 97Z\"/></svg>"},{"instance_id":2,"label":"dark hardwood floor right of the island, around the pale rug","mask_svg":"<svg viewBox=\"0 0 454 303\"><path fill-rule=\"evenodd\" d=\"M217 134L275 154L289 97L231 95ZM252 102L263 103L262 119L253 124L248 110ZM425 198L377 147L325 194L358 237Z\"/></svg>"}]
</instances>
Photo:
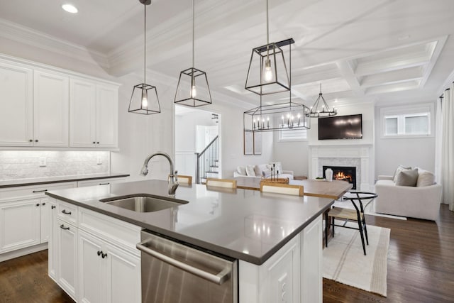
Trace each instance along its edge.
<instances>
[{"instance_id":1,"label":"dark hardwood floor right of the island, around the pale rug","mask_svg":"<svg viewBox=\"0 0 454 303\"><path fill-rule=\"evenodd\" d=\"M391 228L387 297L323 279L323 302L454 302L454 212L441 205L437 221L366 215Z\"/></svg>"}]
</instances>

